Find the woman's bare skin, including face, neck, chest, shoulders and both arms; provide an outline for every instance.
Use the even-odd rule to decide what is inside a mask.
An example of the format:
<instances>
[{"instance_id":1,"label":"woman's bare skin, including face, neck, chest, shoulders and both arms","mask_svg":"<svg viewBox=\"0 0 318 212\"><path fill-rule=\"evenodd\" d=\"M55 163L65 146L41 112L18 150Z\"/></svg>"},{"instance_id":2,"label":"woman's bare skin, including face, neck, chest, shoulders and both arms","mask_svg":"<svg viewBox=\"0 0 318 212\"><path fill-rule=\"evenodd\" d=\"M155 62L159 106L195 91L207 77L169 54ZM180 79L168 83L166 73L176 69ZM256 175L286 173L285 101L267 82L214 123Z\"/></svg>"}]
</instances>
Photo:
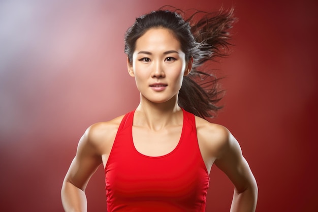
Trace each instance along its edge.
<instances>
[{"instance_id":1,"label":"woman's bare skin, including face, neck, chest, shoulders and both arms","mask_svg":"<svg viewBox=\"0 0 318 212\"><path fill-rule=\"evenodd\" d=\"M133 123L133 140L140 153L161 156L178 144L183 122L182 110L177 104L178 91L192 63L193 59L185 58L179 41L167 29L149 29L137 40L133 61L127 65L140 91ZM94 124L80 139L61 191L66 211L87 211L88 180L100 164L105 167L122 118ZM256 180L237 140L225 127L197 116L196 127L207 170L215 164L235 187L231 211L255 211Z\"/></svg>"}]
</instances>

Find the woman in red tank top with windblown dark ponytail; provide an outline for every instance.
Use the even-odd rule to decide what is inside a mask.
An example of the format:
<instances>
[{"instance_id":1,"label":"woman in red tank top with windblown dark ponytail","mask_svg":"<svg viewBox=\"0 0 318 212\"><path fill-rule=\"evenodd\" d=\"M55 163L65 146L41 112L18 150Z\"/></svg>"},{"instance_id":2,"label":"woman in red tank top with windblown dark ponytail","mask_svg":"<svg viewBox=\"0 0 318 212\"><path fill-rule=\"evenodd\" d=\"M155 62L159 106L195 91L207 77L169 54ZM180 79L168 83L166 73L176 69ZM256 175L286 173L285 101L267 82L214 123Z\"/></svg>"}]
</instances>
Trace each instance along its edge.
<instances>
[{"instance_id":1,"label":"woman in red tank top with windblown dark ponytail","mask_svg":"<svg viewBox=\"0 0 318 212\"><path fill-rule=\"evenodd\" d=\"M136 19L125 53L140 104L86 130L62 186L66 211L87 210L85 187L100 164L109 212L205 211L213 164L235 186L231 211L255 211L257 184L238 142L204 119L219 109L217 80L198 70L226 55L234 21L232 10L186 21L158 10Z\"/></svg>"}]
</instances>

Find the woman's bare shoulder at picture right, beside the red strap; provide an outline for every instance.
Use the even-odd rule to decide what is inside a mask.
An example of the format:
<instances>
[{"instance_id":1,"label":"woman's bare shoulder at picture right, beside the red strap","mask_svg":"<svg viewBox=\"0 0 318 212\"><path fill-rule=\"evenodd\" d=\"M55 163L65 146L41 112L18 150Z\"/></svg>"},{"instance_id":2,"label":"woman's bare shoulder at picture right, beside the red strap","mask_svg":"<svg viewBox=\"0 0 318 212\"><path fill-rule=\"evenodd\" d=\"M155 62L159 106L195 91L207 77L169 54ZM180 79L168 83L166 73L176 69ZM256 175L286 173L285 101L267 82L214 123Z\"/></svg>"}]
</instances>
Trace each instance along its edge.
<instances>
[{"instance_id":1,"label":"woman's bare shoulder at picture right, beside the red strap","mask_svg":"<svg viewBox=\"0 0 318 212\"><path fill-rule=\"evenodd\" d=\"M196 128L198 141L209 155L218 158L230 145L232 135L226 127L196 116Z\"/></svg>"}]
</instances>

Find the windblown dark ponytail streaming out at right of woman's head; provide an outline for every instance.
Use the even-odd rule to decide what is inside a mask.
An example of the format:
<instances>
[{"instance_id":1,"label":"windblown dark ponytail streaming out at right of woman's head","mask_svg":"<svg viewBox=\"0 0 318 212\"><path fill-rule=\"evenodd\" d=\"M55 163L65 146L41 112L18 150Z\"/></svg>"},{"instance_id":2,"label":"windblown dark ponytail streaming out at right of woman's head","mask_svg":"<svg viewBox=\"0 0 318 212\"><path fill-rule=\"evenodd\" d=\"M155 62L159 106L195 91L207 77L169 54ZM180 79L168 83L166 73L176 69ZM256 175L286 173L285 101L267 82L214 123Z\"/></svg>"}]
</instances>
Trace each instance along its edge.
<instances>
[{"instance_id":1,"label":"windblown dark ponytail streaming out at right of woman's head","mask_svg":"<svg viewBox=\"0 0 318 212\"><path fill-rule=\"evenodd\" d=\"M198 15L201 15L201 18L196 21ZM186 111L202 118L211 118L222 108L216 103L222 99L225 92L219 89L219 79L206 67L208 62L217 62L218 57L229 55L229 29L236 20L233 9L220 10L217 13L199 11L185 20L190 23L197 43L192 55L193 70L183 78L178 97L179 106Z\"/></svg>"}]
</instances>

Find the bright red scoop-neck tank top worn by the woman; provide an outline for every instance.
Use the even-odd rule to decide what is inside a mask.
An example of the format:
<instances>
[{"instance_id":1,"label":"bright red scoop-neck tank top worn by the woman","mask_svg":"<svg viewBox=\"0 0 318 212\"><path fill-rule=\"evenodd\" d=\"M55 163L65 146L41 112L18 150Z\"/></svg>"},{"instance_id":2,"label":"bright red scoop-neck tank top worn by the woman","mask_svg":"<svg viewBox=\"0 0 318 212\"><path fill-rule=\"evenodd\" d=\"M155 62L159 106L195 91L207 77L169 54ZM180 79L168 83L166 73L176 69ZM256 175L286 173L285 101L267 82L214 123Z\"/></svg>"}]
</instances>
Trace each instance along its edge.
<instances>
[{"instance_id":1,"label":"bright red scoop-neck tank top worn by the woman","mask_svg":"<svg viewBox=\"0 0 318 212\"><path fill-rule=\"evenodd\" d=\"M145 156L135 148L133 117L134 111L123 117L105 166L108 212L205 211L209 174L195 116L183 110L179 143L159 157Z\"/></svg>"}]
</instances>

